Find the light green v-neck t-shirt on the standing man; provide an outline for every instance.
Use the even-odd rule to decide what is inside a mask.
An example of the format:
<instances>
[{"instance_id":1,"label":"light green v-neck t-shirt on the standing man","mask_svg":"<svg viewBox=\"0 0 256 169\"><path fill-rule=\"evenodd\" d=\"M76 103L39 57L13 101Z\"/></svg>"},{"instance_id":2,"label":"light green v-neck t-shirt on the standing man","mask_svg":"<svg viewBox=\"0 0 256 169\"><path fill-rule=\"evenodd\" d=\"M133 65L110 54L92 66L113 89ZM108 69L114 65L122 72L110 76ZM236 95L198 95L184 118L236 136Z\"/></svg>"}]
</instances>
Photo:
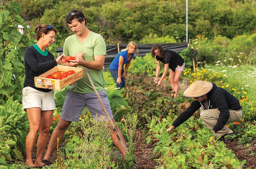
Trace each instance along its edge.
<instances>
[{"instance_id":1,"label":"light green v-neck t-shirt on the standing man","mask_svg":"<svg viewBox=\"0 0 256 169\"><path fill-rule=\"evenodd\" d=\"M106 43L103 37L98 34L91 32L89 37L81 43L76 34L66 38L63 46L63 53L68 56L74 56L78 53L84 52L85 61L94 61L94 56L107 55ZM77 66L83 68L82 66ZM104 90L104 77L103 68L101 70L90 70L87 69L92 82L98 92ZM94 93L92 85L84 72L84 77L77 80L76 84L68 86L68 90L77 93Z\"/></svg>"}]
</instances>

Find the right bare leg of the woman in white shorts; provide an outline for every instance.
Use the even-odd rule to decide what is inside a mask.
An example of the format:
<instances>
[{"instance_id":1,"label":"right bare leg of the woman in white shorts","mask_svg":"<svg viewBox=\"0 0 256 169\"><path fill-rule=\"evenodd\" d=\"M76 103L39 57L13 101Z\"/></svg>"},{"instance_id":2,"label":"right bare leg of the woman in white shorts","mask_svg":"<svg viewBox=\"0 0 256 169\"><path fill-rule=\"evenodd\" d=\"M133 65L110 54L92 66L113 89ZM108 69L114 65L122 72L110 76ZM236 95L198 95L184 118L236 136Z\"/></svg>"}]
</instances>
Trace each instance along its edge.
<instances>
[{"instance_id":1,"label":"right bare leg of the woman in white shorts","mask_svg":"<svg viewBox=\"0 0 256 169\"><path fill-rule=\"evenodd\" d=\"M45 147L48 143L50 127L52 124L52 114L53 114L53 110L42 111L41 113L41 126L39 129L40 133L39 133L37 144L36 144L36 149L37 149L36 160L35 160L36 166L44 165L44 163L42 162L42 158L43 158Z\"/></svg>"}]
</instances>

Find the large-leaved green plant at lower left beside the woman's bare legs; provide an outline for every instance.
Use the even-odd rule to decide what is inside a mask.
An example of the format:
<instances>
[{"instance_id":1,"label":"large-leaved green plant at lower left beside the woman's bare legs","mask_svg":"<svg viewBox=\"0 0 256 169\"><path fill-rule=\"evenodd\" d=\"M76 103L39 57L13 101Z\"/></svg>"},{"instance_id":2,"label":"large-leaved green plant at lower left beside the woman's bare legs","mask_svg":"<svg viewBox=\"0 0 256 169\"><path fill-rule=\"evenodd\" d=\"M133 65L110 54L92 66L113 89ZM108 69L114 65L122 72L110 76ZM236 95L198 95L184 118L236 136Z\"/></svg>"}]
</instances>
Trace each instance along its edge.
<instances>
[{"instance_id":1,"label":"large-leaved green plant at lower left beside the woman's bare legs","mask_svg":"<svg viewBox=\"0 0 256 169\"><path fill-rule=\"evenodd\" d=\"M8 99L0 106L0 154L7 160L23 161L25 141L29 132L28 117L19 100Z\"/></svg>"}]
</instances>

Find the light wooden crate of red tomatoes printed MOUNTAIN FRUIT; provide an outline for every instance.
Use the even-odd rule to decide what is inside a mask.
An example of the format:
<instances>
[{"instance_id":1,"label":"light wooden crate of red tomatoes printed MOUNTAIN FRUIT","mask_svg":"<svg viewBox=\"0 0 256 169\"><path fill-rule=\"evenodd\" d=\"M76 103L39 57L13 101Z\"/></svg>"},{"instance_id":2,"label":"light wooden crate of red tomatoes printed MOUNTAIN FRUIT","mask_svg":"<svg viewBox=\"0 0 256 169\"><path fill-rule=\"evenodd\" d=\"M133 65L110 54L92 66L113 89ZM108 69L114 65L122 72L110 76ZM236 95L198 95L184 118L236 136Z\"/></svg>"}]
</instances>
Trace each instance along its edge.
<instances>
[{"instance_id":1,"label":"light wooden crate of red tomatoes printed MOUNTAIN FRUIT","mask_svg":"<svg viewBox=\"0 0 256 169\"><path fill-rule=\"evenodd\" d=\"M35 77L35 86L39 88L60 90L70 85L74 79L79 80L84 77L82 68L57 65L51 70Z\"/></svg>"}]
</instances>

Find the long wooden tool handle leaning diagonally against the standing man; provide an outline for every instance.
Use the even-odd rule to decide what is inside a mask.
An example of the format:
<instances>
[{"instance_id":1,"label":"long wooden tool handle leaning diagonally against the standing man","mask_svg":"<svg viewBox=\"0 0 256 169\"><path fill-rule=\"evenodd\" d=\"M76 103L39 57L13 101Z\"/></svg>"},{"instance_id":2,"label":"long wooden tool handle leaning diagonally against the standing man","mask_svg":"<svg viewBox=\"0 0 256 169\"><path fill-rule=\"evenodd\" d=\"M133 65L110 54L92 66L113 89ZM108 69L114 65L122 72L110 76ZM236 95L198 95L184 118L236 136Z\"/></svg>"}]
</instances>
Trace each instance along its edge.
<instances>
[{"instance_id":1,"label":"long wooden tool handle leaning diagonally against the standing man","mask_svg":"<svg viewBox=\"0 0 256 169\"><path fill-rule=\"evenodd\" d=\"M83 67L83 68L84 68L84 71L85 71L85 73L86 73L86 75L87 75L87 77L88 77L88 79L89 79L91 85L92 85L92 88L93 88L93 90L94 90L94 92L95 92L97 98L98 98L99 101L100 101L100 104L101 104L101 106L102 106L104 112L106 113L106 115L107 115L107 117L108 117L108 120L110 121L110 123L111 123L111 125L112 125L112 127L113 127L113 130L116 132L116 136L117 136L118 140L120 141L120 143L121 143L121 145L122 145L122 147L123 147L123 149L124 149L124 152L127 153L128 151L127 151L127 149L126 149L125 146L124 146L123 140L122 140L121 137L119 136L119 134L118 134L118 132L117 132L117 130L116 130L116 126L115 126L115 124L113 123L113 121L111 120L111 118L110 118L110 116L109 116L109 114L108 114L108 111L107 111L106 107L104 106L104 104L103 104L103 102L102 102L102 100L101 100L101 98L100 98L100 95L99 95L98 91L97 91L96 88L95 88L95 85L94 85L93 82L92 82L92 78L90 77L90 75L89 75L87 69L86 69L85 67Z\"/></svg>"}]
</instances>

